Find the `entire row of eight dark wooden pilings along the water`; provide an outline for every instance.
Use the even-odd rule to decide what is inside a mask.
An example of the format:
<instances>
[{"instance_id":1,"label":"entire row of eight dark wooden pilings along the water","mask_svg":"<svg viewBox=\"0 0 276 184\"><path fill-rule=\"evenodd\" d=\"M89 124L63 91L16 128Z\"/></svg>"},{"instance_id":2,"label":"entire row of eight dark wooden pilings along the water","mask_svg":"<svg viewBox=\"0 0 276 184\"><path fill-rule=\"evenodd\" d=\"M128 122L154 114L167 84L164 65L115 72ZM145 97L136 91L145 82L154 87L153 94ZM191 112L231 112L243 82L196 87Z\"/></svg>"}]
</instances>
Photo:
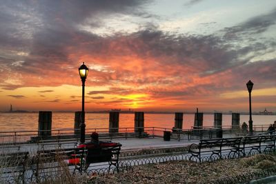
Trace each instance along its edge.
<instances>
[{"instance_id":1,"label":"entire row of eight dark wooden pilings along the water","mask_svg":"<svg viewBox=\"0 0 276 184\"><path fill-rule=\"evenodd\" d=\"M195 113L194 128L203 127L203 112ZM175 129L183 129L183 112L175 112ZM75 134L79 134L79 126L81 125L82 117L81 112L75 112ZM135 112L134 119L135 132L144 132L144 112ZM214 114L214 127L222 128L222 113ZM239 113L232 113L232 129L239 129ZM39 136L51 136L52 131L52 112L40 111L39 112ZM119 132L119 112L109 112L109 132Z\"/></svg>"}]
</instances>

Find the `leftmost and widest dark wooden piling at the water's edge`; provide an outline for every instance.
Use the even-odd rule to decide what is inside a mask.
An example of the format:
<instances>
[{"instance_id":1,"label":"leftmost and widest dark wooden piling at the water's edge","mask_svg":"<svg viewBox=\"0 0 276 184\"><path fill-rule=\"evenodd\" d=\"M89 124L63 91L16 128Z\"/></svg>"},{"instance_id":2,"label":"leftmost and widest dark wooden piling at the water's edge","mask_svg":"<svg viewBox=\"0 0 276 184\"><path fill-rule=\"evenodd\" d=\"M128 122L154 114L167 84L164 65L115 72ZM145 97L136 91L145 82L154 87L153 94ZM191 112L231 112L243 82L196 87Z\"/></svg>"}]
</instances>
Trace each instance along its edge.
<instances>
[{"instance_id":1,"label":"leftmost and widest dark wooden piling at the water's edge","mask_svg":"<svg viewBox=\"0 0 276 184\"><path fill-rule=\"evenodd\" d=\"M52 112L39 111L39 136L52 135Z\"/></svg>"}]
</instances>

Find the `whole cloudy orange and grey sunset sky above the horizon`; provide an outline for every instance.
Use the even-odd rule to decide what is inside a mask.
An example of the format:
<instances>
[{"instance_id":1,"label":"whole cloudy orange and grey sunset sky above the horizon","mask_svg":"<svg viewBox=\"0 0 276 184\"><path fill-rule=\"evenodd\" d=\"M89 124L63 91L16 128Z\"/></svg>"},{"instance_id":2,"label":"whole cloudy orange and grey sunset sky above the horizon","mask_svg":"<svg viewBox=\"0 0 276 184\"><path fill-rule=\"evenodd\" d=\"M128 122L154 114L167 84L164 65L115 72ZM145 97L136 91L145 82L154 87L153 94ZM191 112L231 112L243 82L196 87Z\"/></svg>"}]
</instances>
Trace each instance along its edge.
<instances>
[{"instance_id":1,"label":"whole cloudy orange and grey sunset sky above the horizon","mask_svg":"<svg viewBox=\"0 0 276 184\"><path fill-rule=\"evenodd\" d=\"M276 1L0 0L0 111L276 112Z\"/></svg>"}]
</instances>

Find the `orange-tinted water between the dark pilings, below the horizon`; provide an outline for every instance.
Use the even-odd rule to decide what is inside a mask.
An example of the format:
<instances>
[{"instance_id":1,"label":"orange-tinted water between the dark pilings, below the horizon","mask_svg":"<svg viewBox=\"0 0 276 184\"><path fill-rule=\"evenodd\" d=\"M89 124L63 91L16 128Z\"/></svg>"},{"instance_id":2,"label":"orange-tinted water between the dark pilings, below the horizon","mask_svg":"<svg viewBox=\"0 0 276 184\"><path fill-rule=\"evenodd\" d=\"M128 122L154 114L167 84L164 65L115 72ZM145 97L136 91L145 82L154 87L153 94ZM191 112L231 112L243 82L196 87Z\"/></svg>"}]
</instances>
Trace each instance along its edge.
<instances>
[{"instance_id":1,"label":"orange-tinted water between the dark pilings, below the horizon","mask_svg":"<svg viewBox=\"0 0 276 184\"><path fill-rule=\"evenodd\" d=\"M0 113L0 132L37 131L38 112ZM119 127L134 127L134 114L119 114ZM183 129L190 129L194 124L195 114L184 114ZM276 115L253 115L253 126L270 125L276 121ZM249 116L240 115L240 124L248 124ZM73 129L75 112L52 112L52 130ZM222 125L230 126L231 114L223 114ZM213 126L214 115L204 114L204 126ZM86 113L86 128L108 128L108 113ZM145 127L172 128L175 125L175 114L144 114Z\"/></svg>"}]
</instances>

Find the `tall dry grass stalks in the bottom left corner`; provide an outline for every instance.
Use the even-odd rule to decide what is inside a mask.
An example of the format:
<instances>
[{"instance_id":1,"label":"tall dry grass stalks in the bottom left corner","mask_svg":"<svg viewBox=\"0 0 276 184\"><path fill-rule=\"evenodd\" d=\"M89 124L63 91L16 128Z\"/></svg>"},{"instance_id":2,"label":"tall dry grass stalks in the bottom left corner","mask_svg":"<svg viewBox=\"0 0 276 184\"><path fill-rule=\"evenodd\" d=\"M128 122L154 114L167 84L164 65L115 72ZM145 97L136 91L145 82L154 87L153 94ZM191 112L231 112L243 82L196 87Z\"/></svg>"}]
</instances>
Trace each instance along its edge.
<instances>
[{"instance_id":1,"label":"tall dry grass stalks in the bottom left corner","mask_svg":"<svg viewBox=\"0 0 276 184\"><path fill-rule=\"evenodd\" d=\"M32 173L37 171L35 160L38 158L34 155L30 154L28 159L23 159L19 156L10 156L10 154L1 152L0 183L22 183L22 178L19 176L21 172L16 171L23 170L23 164L29 173L25 174L25 177L31 178ZM57 155L54 159L41 157L39 159L38 181L33 175L32 182L28 181L28 183L77 184L88 182L88 177L85 174L72 174L72 170L69 169L67 163L64 161L63 155Z\"/></svg>"}]
</instances>

